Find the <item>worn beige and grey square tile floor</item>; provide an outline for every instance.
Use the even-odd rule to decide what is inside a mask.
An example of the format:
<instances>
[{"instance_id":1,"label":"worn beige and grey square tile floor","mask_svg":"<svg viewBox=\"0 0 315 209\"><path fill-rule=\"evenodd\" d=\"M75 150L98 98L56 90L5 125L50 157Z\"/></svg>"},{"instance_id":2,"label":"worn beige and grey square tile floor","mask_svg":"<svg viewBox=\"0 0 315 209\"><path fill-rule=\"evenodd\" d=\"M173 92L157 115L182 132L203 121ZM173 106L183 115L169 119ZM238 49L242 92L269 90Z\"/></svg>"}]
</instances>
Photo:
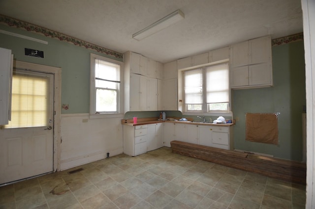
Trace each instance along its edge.
<instances>
[{"instance_id":1,"label":"worn beige and grey square tile floor","mask_svg":"<svg viewBox=\"0 0 315 209\"><path fill-rule=\"evenodd\" d=\"M167 147L0 187L0 209L304 209L305 200L304 185L182 156Z\"/></svg>"}]
</instances>

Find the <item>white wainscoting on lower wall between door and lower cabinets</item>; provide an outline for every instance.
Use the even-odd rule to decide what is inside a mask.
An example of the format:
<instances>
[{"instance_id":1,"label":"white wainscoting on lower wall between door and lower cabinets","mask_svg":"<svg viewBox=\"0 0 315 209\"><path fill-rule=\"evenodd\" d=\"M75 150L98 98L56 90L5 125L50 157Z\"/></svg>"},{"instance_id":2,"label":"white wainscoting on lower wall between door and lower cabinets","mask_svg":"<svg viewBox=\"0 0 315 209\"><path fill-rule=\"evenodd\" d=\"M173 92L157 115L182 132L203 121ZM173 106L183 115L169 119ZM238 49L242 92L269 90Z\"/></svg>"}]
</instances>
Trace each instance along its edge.
<instances>
[{"instance_id":1,"label":"white wainscoting on lower wall between door and lower cabinets","mask_svg":"<svg viewBox=\"0 0 315 209\"><path fill-rule=\"evenodd\" d=\"M62 114L61 170L124 152L123 118L90 119L89 114Z\"/></svg>"}]
</instances>

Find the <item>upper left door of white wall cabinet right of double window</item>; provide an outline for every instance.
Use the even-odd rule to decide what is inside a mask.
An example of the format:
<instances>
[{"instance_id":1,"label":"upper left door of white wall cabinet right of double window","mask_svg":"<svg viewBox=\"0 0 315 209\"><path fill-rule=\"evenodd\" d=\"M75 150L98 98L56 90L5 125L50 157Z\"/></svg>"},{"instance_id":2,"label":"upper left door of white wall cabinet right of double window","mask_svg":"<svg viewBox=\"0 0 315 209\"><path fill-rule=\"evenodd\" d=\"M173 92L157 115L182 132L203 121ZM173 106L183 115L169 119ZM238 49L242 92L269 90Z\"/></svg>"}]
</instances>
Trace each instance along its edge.
<instances>
[{"instance_id":1,"label":"upper left door of white wall cabinet right of double window","mask_svg":"<svg viewBox=\"0 0 315 209\"><path fill-rule=\"evenodd\" d=\"M231 46L232 67L245 66L249 63L248 41Z\"/></svg>"}]
</instances>

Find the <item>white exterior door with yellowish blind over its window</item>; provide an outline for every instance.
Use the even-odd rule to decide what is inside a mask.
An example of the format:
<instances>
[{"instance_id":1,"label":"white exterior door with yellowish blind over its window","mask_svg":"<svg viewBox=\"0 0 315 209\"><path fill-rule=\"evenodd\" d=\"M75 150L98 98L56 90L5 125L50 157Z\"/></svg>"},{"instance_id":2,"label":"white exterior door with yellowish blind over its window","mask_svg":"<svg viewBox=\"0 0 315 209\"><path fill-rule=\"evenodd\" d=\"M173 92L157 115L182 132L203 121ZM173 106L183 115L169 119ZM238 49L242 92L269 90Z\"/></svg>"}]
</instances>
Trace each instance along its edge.
<instances>
[{"instance_id":1,"label":"white exterior door with yellowish blind over its window","mask_svg":"<svg viewBox=\"0 0 315 209\"><path fill-rule=\"evenodd\" d=\"M53 74L13 70L11 121L0 129L0 184L53 171L53 92Z\"/></svg>"}]
</instances>

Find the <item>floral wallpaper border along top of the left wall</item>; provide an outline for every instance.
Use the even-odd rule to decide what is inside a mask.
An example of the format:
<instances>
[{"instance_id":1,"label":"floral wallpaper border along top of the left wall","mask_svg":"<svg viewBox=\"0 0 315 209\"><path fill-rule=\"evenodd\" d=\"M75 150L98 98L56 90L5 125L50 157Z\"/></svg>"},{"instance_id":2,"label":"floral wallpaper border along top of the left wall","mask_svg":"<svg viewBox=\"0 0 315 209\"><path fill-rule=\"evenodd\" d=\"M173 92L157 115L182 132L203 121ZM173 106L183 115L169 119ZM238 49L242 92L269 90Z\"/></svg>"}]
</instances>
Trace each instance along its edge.
<instances>
[{"instance_id":1,"label":"floral wallpaper border along top of the left wall","mask_svg":"<svg viewBox=\"0 0 315 209\"><path fill-rule=\"evenodd\" d=\"M61 41L66 41L66 42L72 43L72 44L77 45L77 46L82 46L82 47L85 47L87 49L92 49L92 50L95 50L97 52L100 52L100 53L103 53L106 55L110 55L110 56L114 56L114 57L119 58L119 59L123 59L122 53L115 52L113 50L110 50L110 49L107 49L107 48L104 48L101 46L97 46L95 44L77 39L75 37L71 37L69 35L64 35L64 34L56 32L56 31L52 31L52 30L49 30L47 28L33 25L31 23L17 20L17 19L7 17L7 16L1 15L1 14L0 14L0 23L6 24L10 27L22 28L22 29L30 31L30 32L34 32L34 33L38 33L38 34L45 35L48 37L56 38L56 39L59 39Z\"/></svg>"}]
</instances>

